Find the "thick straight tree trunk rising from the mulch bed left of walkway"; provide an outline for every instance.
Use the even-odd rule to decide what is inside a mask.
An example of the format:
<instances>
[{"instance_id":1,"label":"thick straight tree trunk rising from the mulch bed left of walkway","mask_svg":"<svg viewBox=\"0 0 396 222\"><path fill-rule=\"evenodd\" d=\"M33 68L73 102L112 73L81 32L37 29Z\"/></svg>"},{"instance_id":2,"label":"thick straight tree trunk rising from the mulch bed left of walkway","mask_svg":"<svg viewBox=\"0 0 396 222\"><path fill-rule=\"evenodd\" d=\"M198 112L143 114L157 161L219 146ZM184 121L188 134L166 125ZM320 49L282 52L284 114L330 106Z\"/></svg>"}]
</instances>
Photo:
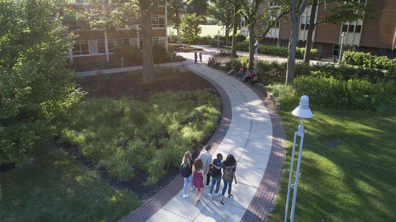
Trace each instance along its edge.
<instances>
[{"instance_id":1,"label":"thick straight tree trunk rising from the mulch bed left of walkway","mask_svg":"<svg viewBox=\"0 0 396 222\"><path fill-rule=\"evenodd\" d=\"M143 43L143 82L152 81L154 76L154 62L152 56L151 15L147 10L141 10L142 43Z\"/></svg>"}]
</instances>

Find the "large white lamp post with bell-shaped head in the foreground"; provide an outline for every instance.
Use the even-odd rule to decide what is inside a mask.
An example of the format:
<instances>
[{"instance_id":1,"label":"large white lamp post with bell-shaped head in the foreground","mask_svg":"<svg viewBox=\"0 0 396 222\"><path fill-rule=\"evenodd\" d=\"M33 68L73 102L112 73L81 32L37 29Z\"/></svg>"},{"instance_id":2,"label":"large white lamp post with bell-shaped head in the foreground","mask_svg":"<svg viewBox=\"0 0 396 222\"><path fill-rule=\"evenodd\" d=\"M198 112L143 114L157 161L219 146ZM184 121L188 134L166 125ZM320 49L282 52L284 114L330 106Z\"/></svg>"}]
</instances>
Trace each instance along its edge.
<instances>
[{"instance_id":1,"label":"large white lamp post with bell-shaped head in the foreground","mask_svg":"<svg viewBox=\"0 0 396 222\"><path fill-rule=\"evenodd\" d=\"M296 204L298 178L299 178L299 173L300 173L301 152L303 150L303 141L304 141L303 119L304 118L312 118L312 117L314 117L314 114L309 109L309 98L308 98L308 96L301 96L299 106L297 108L295 108L291 113L293 115L295 115L296 117L300 117L301 120L300 120L300 125L298 126L298 131L294 132L293 151L291 151L289 186L287 187L287 198L286 198L285 222L286 222L286 219L287 219L287 207L289 206L290 188L294 189L293 202L291 204L290 222L293 222L293 219L294 219L294 208L295 208L295 204ZM299 153L298 153L295 184L291 184L291 175L293 173L293 160L294 160L294 152L295 152L295 147L296 147L297 136L299 136L301 138L300 139L300 150L299 150Z\"/></svg>"}]
</instances>

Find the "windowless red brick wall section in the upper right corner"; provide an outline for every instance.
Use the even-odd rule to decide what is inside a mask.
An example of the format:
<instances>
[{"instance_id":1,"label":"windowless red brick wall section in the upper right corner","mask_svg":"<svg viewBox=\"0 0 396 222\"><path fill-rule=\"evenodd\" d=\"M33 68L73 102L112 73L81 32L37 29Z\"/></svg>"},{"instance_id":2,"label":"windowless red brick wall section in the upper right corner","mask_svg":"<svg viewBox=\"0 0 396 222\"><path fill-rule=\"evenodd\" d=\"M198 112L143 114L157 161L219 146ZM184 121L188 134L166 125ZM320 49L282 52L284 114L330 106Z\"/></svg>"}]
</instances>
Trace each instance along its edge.
<instances>
[{"instance_id":1,"label":"windowless red brick wall section in the upper right corner","mask_svg":"<svg viewBox=\"0 0 396 222\"><path fill-rule=\"evenodd\" d=\"M360 46L392 49L396 27L395 0L367 0L367 8L375 9L378 19L365 19Z\"/></svg>"}]
</instances>

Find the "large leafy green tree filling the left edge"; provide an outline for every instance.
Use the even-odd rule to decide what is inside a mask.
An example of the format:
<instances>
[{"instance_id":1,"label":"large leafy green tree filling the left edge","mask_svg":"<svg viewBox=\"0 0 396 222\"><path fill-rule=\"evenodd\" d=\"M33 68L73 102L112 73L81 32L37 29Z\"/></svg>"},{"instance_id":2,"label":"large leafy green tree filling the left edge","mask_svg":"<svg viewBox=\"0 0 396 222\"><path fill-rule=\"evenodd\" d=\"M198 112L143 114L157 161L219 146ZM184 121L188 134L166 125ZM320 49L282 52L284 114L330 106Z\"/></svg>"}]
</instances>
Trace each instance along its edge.
<instances>
[{"instance_id":1,"label":"large leafy green tree filling the left edge","mask_svg":"<svg viewBox=\"0 0 396 222\"><path fill-rule=\"evenodd\" d=\"M0 163L22 164L71 121L84 93L65 67L72 33L55 0L0 0Z\"/></svg>"}]
</instances>

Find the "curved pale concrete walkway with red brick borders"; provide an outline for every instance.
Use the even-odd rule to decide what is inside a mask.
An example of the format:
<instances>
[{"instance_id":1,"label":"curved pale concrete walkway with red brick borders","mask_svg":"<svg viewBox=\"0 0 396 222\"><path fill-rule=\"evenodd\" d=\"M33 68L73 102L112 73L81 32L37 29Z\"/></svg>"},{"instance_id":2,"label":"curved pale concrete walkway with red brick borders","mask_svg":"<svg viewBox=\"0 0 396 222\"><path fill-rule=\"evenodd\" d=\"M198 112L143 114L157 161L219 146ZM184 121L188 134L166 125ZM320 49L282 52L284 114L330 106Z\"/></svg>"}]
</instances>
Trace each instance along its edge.
<instances>
[{"instance_id":1,"label":"curved pale concrete walkway with red brick borders","mask_svg":"<svg viewBox=\"0 0 396 222\"><path fill-rule=\"evenodd\" d=\"M183 179L179 176L124 221L262 221L270 209L282 169L282 122L257 89L204 64L186 67L208 79L222 96L223 120L209 144L213 156L233 154L238 161L238 184L232 184L234 198L226 198L221 205L221 196L209 200L209 188L204 188L200 205L195 206L195 193L189 185L190 196L183 199Z\"/></svg>"}]
</instances>

